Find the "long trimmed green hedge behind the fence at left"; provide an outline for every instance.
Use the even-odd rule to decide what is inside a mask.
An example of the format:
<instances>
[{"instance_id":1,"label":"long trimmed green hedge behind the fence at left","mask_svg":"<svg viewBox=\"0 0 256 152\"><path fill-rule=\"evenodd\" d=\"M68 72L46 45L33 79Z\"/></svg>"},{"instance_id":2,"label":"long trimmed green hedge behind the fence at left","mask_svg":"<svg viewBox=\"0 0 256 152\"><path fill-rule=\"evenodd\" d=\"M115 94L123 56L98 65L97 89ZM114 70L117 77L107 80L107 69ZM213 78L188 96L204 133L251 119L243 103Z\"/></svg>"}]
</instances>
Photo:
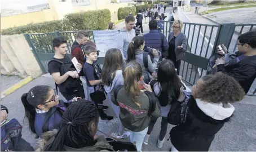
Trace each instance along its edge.
<instances>
[{"instance_id":1,"label":"long trimmed green hedge behind the fence at left","mask_svg":"<svg viewBox=\"0 0 256 152\"><path fill-rule=\"evenodd\" d=\"M1 34L51 33L55 30L60 32L72 30L103 30L108 26L109 22L111 22L111 12L108 9L104 9L67 14L63 20L30 23L28 25L3 29Z\"/></svg>"}]
</instances>

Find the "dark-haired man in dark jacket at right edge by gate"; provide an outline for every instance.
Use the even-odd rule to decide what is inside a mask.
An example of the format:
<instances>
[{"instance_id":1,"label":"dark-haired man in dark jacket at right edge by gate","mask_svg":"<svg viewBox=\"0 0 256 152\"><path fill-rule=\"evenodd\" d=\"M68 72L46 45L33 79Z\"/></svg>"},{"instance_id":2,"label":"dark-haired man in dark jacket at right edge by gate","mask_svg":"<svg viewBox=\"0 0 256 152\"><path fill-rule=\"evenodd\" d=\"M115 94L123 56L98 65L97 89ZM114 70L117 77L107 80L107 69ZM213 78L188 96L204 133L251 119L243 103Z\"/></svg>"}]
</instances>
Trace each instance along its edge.
<instances>
[{"instance_id":1,"label":"dark-haired man in dark jacket at right edge by gate","mask_svg":"<svg viewBox=\"0 0 256 152\"><path fill-rule=\"evenodd\" d=\"M218 71L235 78L244 88L245 93L248 93L251 84L256 78L256 32L247 32L239 35L237 48L239 50L236 52L236 57L239 60L237 64L224 66L226 63L224 57L217 59L215 64L218 67ZM223 51L227 52L227 48L224 47Z\"/></svg>"}]
</instances>

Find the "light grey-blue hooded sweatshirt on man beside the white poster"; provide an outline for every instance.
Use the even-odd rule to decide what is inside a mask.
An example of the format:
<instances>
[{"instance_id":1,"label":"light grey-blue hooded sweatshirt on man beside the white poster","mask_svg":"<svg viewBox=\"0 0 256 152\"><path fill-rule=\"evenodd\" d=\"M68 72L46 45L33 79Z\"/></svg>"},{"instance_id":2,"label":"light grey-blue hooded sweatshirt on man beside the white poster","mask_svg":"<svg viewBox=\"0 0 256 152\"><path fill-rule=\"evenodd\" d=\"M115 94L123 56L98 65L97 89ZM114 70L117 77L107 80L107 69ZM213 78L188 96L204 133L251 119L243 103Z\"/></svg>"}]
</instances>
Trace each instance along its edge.
<instances>
[{"instance_id":1,"label":"light grey-blue hooded sweatshirt on man beside the white poster","mask_svg":"<svg viewBox=\"0 0 256 152\"><path fill-rule=\"evenodd\" d=\"M125 30L125 28L122 28L120 30L120 33L117 39L117 45L118 45L118 49L122 53L123 59L127 59L127 49L128 49L129 43L133 40L135 35L136 33L134 29L127 31Z\"/></svg>"}]
</instances>

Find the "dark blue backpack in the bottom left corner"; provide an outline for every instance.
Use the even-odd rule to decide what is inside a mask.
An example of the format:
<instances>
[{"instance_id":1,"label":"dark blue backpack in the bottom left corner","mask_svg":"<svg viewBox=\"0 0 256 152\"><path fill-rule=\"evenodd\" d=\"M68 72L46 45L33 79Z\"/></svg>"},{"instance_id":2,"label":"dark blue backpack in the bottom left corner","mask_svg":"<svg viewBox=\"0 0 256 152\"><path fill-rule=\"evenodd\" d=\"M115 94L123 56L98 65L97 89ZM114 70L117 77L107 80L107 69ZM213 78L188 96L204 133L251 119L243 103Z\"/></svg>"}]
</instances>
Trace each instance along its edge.
<instances>
[{"instance_id":1,"label":"dark blue backpack in the bottom left corner","mask_svg":"<svg viewBox=\"0 0 256 152\"><path fill-rule=\"evenodd\" d=\"M1 151L13 150L21 140L22 126L16 119L1 123Z\"/></svg>"}]
</instances>

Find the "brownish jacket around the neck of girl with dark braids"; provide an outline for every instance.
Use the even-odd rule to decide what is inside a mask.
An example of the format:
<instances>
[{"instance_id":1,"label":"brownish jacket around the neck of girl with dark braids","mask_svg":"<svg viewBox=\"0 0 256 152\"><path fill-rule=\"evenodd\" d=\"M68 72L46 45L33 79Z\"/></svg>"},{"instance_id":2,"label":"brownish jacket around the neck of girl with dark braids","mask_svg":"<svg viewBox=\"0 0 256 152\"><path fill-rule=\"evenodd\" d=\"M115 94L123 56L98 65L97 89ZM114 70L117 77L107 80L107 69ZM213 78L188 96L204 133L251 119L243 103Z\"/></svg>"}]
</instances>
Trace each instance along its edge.
<instances>
[{"instance_id":1,"label":"brownish jacket around the neck of girl with dark braids","mask_svg":"<svg viewBox=\"0 0 256 152\"><path fill-rule=\"evenodd\" d=\"M47 145L50 145L54 141L54 136L58 133L57 129L45 132L41 140L38 141L38 147L36 151L44 151ZM73 148L68 146L63 146L64 151L114 151L112 146L104 138L104 136L99 136L97 142L93 146L86 146L82 148Z\"/></svg>"}]
</instances>

